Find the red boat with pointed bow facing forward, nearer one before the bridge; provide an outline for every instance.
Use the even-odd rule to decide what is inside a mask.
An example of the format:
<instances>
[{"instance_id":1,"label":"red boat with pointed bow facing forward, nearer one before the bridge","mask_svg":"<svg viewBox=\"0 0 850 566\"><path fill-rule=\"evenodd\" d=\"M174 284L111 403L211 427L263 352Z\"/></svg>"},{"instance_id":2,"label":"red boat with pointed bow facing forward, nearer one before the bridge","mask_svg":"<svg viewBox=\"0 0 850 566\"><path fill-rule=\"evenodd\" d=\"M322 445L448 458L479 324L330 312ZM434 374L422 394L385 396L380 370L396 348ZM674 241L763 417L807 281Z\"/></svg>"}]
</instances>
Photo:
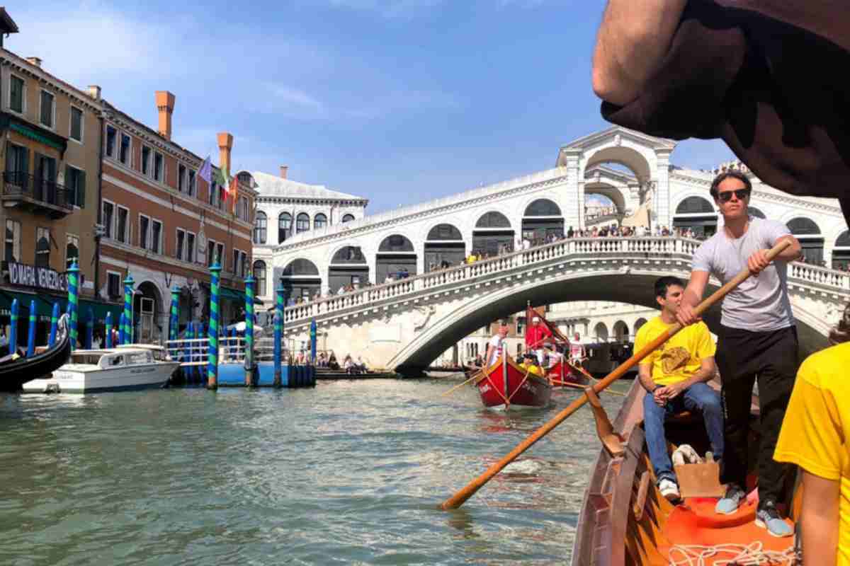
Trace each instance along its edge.
<instances>
[{"instance_id":1,"label":"red boat with pointed bow facing forward, nearer one before the bridge","mask_svg":"<svg viewBox=\"0 0 850 566\"><path fill-rule=\"evenodd\" d=\"M552 396L549 380L523 367L502 351L496 363L475 379L484 406L547 406Z\"/></svg>"}]
</instances>

